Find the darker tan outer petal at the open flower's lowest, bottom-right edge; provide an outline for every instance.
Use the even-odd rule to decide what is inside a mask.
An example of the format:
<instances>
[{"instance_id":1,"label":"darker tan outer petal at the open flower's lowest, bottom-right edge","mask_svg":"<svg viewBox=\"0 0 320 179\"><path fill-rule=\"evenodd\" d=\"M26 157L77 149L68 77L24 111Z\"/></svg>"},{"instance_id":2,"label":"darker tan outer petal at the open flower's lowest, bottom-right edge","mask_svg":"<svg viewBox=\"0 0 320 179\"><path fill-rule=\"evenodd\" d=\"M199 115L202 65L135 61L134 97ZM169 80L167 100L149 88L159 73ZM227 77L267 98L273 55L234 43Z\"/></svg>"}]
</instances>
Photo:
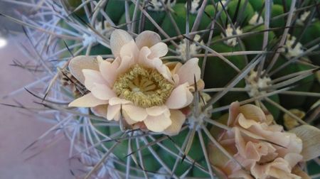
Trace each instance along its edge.
<instances>
[{"instance_id":1,"label":"darker tan outer petal at the open flower's lowest, bottom-right edge","mask_svg":"<svg viewBox=\"0 0 320 179\"><path fill-rule=\"evenodd\" d=\"M170 110L171 125L164 130L164 134L174 136L179 133L181 126L186 121L186 116L180 110Z\"/></svg>"}]
</instances>

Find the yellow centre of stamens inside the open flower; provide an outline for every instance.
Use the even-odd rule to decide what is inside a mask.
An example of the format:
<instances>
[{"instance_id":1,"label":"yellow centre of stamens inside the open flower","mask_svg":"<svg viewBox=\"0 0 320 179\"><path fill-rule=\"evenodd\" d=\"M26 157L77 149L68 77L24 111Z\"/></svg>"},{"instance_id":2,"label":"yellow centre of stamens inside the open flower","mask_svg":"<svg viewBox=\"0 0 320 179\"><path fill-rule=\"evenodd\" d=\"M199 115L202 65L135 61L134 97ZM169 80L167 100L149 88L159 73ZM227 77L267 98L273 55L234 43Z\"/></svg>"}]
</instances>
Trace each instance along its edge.
<instances>
[{"instance_id":1,"label":"yellow centre of stamens inside the open flower","mask_svg":"<svg viewBox=\"0 0 320 179\"><path fill-rule=\"evenodd\" d=\"M157 70L146 69L139 65L134 65L114 83L114 91L119 97L139 107L164 104L172 89L174 85Z\"/></svg>"}]
</instances>

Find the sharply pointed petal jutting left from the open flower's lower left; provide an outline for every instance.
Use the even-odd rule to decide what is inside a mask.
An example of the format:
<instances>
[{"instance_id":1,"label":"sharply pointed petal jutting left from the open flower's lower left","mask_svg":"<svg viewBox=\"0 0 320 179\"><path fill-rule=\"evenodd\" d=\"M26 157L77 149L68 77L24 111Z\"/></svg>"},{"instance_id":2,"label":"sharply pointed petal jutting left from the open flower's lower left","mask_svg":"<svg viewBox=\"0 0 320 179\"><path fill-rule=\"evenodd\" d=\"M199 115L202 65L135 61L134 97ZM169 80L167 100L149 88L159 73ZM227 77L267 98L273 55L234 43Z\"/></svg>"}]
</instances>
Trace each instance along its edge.
<instances>
[{"instance_id":1,"label":"sharply pointed petal jutting left from the open flower's lower left","mask_svg":"<svg viewBox=\"0 0 320 179\"><path fill-rule=\"evenodd\" d=\"M100 104L108 104L108 101L97 99L92 93L85 94L83 97L70 102L69 107L96 107Z\"/></svg>"}]
</instances>

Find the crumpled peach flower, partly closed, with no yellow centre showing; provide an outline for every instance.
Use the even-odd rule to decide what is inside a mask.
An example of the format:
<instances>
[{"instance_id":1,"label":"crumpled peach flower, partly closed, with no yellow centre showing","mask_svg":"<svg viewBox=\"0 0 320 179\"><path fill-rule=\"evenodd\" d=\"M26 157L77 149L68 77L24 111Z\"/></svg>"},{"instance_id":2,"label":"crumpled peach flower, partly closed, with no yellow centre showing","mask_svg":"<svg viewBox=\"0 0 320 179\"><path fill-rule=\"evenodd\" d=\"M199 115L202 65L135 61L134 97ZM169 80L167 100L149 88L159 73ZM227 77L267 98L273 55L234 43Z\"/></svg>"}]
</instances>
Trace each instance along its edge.
<instances>
[{"instance_id":1,"label":"crumpled peach flower, partly closed, with no yellow centre showing","mask_svg":"<svg viewBox=\"0 0 320 179\"><path fill-rule=\"evenodd\" d=\"M220 133L218 141L238 163L209 145L210 161L225 178L301 178L297 164L303 160L302 139L272 124L270 118L252 104L230 105L231 129Z\"/></svg>"}]
</instances>

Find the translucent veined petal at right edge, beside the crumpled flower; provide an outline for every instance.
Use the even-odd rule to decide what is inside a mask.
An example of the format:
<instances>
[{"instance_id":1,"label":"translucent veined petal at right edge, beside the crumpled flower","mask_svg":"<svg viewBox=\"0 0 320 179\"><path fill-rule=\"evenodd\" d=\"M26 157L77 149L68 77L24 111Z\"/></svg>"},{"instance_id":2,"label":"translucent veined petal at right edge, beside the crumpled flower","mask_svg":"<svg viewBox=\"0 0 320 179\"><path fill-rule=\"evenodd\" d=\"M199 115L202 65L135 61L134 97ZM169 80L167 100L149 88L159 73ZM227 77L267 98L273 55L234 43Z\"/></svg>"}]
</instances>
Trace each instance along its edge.
<instances>
[{"instance_id":1,"label":"translucent veined petal at right edge, beside the crumpled flower","mask_svg":"<svg viewBox=\"0 0 320 179\"><path fill-rule=\"evenodd\" d=\"M296 134L302 139L302 156L304 161L309 161L320 156L320 129L310 126L298 126L289 132Z\"/></svg>"}]
</instances>

